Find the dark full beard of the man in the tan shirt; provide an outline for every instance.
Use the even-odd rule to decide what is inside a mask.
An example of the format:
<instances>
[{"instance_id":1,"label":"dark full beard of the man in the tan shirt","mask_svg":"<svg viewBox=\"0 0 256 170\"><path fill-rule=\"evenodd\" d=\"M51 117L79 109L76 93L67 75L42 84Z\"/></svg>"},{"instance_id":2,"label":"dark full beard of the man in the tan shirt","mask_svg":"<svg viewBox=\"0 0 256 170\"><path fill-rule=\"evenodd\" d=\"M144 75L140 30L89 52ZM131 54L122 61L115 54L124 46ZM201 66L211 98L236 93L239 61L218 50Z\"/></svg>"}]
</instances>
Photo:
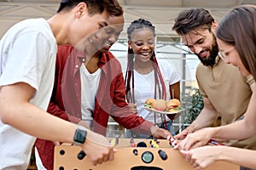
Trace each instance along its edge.
<instances>
[{"instance_id":1,"label":"dark full beard of the man in the tan shirt","mask_svg":"<svg viewBox=\"0 0 256 170\"><path fill-rule=\"evenodd\" d=\"M216 37L214 37L214 42L212 44L212 50L210 50L210 49L206 49L206 50L210 51L210 55L208 57L201 58L200 54L195 54L195 55L197 55L198 59L201 60L201 63L203 65L206 65L206 66L215 65L215 59L218 56L218 44L216 42ZM204 51L201 51L201 53L202 52L204 52Z\"/></svg>"}]
</instances>

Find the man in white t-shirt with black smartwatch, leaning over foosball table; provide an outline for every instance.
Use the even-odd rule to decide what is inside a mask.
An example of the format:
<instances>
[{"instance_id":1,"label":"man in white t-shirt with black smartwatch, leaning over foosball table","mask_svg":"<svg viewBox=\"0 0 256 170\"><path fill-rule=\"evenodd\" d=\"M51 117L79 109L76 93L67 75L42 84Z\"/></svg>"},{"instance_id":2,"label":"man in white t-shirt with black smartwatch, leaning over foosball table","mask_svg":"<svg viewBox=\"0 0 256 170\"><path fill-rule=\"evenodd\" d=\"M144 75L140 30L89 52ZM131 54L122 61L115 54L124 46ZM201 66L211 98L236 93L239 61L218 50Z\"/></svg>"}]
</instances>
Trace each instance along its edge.
<instances>
[{"instance_id":1,"label":"man in white t-shirt with black smartwatch, leaning over foosball table","mask_svg":"<svg viewBox=\"0 0 256 170\"><path fill-rule=\"evenodd\" d=\"M76 46L123 12L115 0L62 0L49 20L24 20L0 42L0 169L26 169L35 137L81 144L93 165L113 160L102 135L46 112L55 75L57 45ZM78 138L79 134L83 138Z\"/></svg>"}]
</instances>

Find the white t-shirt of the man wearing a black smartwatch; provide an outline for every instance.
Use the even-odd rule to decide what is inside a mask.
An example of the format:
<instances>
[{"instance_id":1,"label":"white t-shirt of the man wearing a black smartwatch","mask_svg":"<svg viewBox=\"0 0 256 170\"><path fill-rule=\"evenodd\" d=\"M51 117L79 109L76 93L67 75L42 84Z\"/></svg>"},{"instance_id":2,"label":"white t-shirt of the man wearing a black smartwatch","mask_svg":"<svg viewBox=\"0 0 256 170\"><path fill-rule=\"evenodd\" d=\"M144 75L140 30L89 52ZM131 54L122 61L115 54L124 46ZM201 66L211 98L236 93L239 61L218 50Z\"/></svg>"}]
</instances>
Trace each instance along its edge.
<instances>
[{"instance_id":1,"label":"white t-shirt of the man wearing a black smartwatch","mask_svg":"<svg viewBox=\"0 0 256 170\"><path fill-rule=\"evenodd\" d=\"M54 84L56 52L55 37L46 20L16 24L0 42L0 87L28 83L37 90L30 103L46 111ZM34 137L0 120L0 169L26 169L34 141Z\"/></svg>"}]
</instances>

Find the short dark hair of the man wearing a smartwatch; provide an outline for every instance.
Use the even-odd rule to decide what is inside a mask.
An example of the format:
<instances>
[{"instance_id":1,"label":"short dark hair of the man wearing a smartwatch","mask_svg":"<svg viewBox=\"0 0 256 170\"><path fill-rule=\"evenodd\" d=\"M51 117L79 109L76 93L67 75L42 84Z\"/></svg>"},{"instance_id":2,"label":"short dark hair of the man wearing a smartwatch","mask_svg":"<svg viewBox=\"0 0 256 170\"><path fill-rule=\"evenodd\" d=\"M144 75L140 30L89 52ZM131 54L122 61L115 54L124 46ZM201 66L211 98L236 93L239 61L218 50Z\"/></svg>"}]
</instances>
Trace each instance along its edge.
<instances>
[{"instance_id":1,"label":"short dark hair of the man wearing a smartwatch","mask_svg":"<svg viewBox=\"0 0 256 170\"><path fill-rule=\"evenodd\" d=\"M86 3L89 14L102 14L104 9L107 10L108 14L113 16L124 14L123 8L117 0L61 0L57 13L63 10L68 11L79 3Z\"/></svg>"}]
</instances>

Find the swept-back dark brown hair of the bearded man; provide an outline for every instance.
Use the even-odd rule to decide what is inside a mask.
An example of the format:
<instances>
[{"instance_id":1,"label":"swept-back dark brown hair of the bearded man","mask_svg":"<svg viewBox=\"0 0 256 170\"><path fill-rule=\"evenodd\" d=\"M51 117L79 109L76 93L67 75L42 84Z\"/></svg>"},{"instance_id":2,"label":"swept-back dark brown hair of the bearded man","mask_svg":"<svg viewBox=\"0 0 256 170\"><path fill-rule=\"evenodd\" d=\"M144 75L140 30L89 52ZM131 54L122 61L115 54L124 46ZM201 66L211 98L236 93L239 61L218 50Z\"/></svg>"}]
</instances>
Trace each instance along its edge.
<instances>
[{"instance_id":1,"label":"swept-back dark brown hair of the bearded man","mask_svg":"<svg viewBox=\"0 0 256 170\"><path fill-rule=\"evenodd\" d=\"M190 8L178 14L172 30L176 31L178 35L184 35L189 31L206 26L206 29L211 31L212 22L214 22L214 19L207 9Z\"/></svg>"}]
</instances>

